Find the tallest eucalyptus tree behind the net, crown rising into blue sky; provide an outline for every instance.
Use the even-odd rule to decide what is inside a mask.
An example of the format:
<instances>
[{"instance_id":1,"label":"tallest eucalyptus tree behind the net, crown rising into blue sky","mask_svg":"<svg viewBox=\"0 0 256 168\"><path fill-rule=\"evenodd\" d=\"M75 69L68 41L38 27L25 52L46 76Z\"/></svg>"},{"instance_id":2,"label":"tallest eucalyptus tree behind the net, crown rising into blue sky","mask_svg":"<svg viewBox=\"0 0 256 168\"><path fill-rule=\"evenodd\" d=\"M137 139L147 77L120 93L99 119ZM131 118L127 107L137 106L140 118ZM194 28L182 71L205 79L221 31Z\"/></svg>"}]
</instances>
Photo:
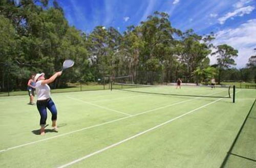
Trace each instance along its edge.
<instances>
[{"instance_id":1,"label":"tallest eucalyptus tree behind the net, crown rising into blue sky","mask_svg":"<svg viewBox=\"0 0 256 168\"><path fill-rule=\"evenodd\" d=\"M141 22L141 34L144 42L144 49L140 55L142 70L150 66L155 72L165 71L166 80L169 80L177 66L177 39L174 37L181 36L181 31L172 27L167 13L155 12L153 16L148 16L146 21Z\"/></svg>"}]
</instances>

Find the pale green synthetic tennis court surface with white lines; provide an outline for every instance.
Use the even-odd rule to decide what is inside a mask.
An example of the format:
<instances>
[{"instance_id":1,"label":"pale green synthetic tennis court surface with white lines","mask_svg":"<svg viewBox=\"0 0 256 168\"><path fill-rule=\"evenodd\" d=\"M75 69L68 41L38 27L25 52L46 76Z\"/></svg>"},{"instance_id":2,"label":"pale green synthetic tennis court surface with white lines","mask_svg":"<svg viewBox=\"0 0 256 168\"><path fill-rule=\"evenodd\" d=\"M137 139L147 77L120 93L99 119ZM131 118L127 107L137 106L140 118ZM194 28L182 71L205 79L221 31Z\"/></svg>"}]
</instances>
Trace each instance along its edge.
<instances>
[{"instance_id":1,"label":"pale green synthetic tennis court surface with white lines","mask_svg":"<svg viewBox=\"0 0 256 168\"><path fill-rule=\"evenodd\" d=\"M138 88L227 96L226 89ZM0 167L220 167L256 95L231 98L155 95L122 90L52 94L59 131L39 135L28 96L0 97ZM253 107L224 167L256 167Z\"/></svg>"}]
</instances>

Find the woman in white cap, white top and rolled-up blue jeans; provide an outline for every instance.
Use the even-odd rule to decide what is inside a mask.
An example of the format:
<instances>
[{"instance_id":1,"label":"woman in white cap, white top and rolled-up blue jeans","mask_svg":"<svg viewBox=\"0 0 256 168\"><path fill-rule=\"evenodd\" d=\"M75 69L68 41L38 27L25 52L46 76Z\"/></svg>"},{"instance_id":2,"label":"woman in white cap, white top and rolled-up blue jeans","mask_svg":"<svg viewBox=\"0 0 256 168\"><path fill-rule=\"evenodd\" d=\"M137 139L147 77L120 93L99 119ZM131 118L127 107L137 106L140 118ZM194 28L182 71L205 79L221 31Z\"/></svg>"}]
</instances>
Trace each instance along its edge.
<instances>
[{"instance_id":1,"label":"woman in white cap, white top and rolled-up blue jeans","mask_svg":"<svg viewBox=\"0 0 256 168\"><path fill-rule=\"evenodd\" d=\"M53 82L58 76L62 74L62 71L56 72L54 75L52 75L49 79L45 79L45 73L37 73L35 75L35 89L37 94L37 102L36 106L40 114L40 134L45 134L45 125L46 125L46 119L47 119L47 110L48 108L51 111L52 114L52 127L54 130L57 131L57 109L54 104L54 102L51 99L51 89L48 86L49 83Z\"/></svg>"}]
</instances>

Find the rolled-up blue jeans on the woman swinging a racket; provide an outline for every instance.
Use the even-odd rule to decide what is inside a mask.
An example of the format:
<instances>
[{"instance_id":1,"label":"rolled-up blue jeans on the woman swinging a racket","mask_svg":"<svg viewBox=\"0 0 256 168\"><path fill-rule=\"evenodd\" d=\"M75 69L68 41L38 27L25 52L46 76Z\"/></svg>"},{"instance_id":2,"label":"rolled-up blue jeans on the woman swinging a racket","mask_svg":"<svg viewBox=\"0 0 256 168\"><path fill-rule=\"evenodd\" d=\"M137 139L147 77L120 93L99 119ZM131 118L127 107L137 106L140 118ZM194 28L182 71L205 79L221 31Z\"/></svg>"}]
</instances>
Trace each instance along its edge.
<instances>
[{"instance_id":1,"label":"rolled-up blue jeans on the woman swinging a racket","mask_svg":"<svg viewBox=\"0 0 256 168\"><path fill-rule=\"evenodd\" d=\"M47 119L47 110L48 108L51 111L52 114L52 121L57 120L57 109L52 101L51 98L48 98L46 100L37 100L36 102L37 109L40 114L40 125L45 126L46 125L46 119Z\"/></svg>"}]
</instances>

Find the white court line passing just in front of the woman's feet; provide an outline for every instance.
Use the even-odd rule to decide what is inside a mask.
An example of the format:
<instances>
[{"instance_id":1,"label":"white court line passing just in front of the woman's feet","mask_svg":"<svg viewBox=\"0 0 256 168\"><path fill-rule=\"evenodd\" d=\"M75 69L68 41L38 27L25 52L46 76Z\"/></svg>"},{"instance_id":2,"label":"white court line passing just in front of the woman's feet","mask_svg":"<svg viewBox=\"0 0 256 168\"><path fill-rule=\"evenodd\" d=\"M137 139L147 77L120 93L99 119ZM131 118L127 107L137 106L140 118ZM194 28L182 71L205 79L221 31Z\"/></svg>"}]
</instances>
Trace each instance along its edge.
<instances>
[{"instance_id":1,"label":"white court line passing just in front of the woman's feet","mask_svg":"<svg viewBox=\"0 0 256 168\"><path fill-rule=\"evenodd\" d=\"M223 91L221 91L221 92L223 92ZM218 92L218 93L220 93L220 92ZM214 94L217 94L217 93L214 93ZM213 94L209 94L209 95L213 95ZM62 133L62 134L59 134L59 135L56 135L56 136L52 136L52 137L49 137L49 138L40 139L38 141L34 141L34 142L31 142L31 143L27 143L27 144L18 145L18 146L14 146L14 147L11 147L11 148L3 149L3 150L0 150L0 153L1 152L6 152L6 151L9 151L9 150L12 150L12 149L16 149L16 148L20 148L20 147L25 147L25 146L32 145L32 144L36 144L36 143L39 143L39 142L48 141L49 139L53 139L53 138L57 138L57 137L60 137L60 136L65 136L65 135L69 135L69 134L72 134L72 133L75 133L75 132L79 132L79 131L83 131L83 130L87 130L87 129L90 129L90 128L95 128L95 127L98 127L98 126L110 124L110 123L113 123L113 122L116 122L116 121L120 121L120 120L124 120L124 119L127 119L127 118L139 116L139 115L146 114L146 113L149 113L149 112L154 111L154 110L170 107L170 106L173 106L173 105L176 105L176 104L185 103L185 102L188 102L188 101L191 101L191 100L194 100L194 99L199 99L199 98L201 98L201 97L180 101L180 102L177 102L177 103L174 103L174 104L169 104L169 105L166 105L166 106L162 106L162 107L154 108L154 109L151 109L151 110L147 110L147 111L144 111L142 113L138 113L136 115L122 117L122 118L119 118L119 119L116 119L116 120L104 122L104 123L101 123L101 124L96 124L96 125L93 125L93 126L81 128L81 129L78 129L78 130L75 130L75 131L71 131L71 132L67 132L67 133Z\"/></svg>"}]
</instances>

